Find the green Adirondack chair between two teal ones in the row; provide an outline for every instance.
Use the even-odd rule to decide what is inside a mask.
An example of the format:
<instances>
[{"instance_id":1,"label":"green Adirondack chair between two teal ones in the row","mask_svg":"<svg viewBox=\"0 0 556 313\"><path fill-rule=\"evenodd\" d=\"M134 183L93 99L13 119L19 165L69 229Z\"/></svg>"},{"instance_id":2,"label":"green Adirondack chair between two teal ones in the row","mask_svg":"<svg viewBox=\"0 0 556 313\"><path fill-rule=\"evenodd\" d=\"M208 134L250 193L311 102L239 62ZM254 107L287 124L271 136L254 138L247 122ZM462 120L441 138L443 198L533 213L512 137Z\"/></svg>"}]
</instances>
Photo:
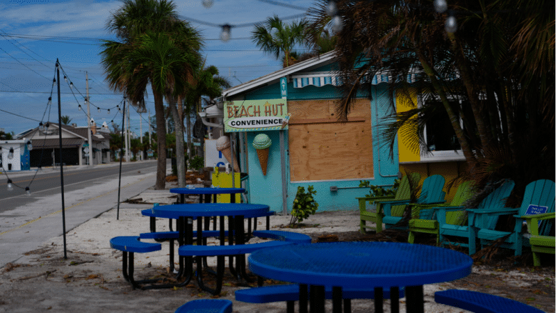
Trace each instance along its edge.
<instances>
[{"instance_id":1,"label":"green Adirondack chair between two teal ones in the row","mask_svg":"<svg viewBox=\"0 0 556 313\"><path fill-rule=\"evenodd\" d=\"M473 195L473 182L463 182L458 186L456 194L452 202L444 204L441 207L461 207ZM409 220L409 237L407 242L414 243L415 233L424 232L427 234L436 234L436 245L440 243L439 222L436 220L436 210L439 209L435 204L417 204L419 209L418 218ZM446 221L450 225L466 225L467 214L465 211L449 211L446 213Z\"/></svg>"}]
</instances>

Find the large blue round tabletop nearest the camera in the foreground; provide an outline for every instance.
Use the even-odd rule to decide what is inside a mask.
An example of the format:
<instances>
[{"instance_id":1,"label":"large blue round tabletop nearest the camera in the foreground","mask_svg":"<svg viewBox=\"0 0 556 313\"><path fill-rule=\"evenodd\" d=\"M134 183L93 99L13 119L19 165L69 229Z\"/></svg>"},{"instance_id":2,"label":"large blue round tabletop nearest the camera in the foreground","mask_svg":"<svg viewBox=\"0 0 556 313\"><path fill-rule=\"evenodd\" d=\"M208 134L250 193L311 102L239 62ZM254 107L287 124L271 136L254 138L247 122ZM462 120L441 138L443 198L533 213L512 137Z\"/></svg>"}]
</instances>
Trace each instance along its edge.
<instances>
[{"instance_id":1,"label":"large blue round tabletop nearest the camera in the foreground","mask_svg":"<svg viewBox=\"0 0 556 313\"><path fill-rule=\"evenodd\" d=\"M471 274L464 253L411 243L304 243L253 252L252 273L328 287L402 287L448 282Z\"/></svg>"}]
</instances>

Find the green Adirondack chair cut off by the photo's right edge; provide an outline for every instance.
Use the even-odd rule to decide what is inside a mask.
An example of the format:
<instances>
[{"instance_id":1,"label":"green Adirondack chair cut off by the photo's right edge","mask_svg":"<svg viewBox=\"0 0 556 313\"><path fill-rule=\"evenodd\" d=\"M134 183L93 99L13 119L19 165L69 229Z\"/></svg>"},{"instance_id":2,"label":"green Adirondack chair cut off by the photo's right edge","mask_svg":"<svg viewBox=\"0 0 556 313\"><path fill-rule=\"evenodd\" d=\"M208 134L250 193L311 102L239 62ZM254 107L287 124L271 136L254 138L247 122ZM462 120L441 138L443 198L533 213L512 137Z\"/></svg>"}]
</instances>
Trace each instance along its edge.
<instances>
[{"instance_id":1,"label":"green Adirondack chair cut off by the photo's right edge","mask_svg":"<svg viewBox=\"0 0 556 313\"><path fill-rule=\"evenodd\" d=\"M539 235L539 221L556 218L556 213L534 214L521 216L527 220L527 228L531 234L529 243L533 252L533 265L541 266L539 253L556 254L556 236Z\"/></svg>"}]
</instances>

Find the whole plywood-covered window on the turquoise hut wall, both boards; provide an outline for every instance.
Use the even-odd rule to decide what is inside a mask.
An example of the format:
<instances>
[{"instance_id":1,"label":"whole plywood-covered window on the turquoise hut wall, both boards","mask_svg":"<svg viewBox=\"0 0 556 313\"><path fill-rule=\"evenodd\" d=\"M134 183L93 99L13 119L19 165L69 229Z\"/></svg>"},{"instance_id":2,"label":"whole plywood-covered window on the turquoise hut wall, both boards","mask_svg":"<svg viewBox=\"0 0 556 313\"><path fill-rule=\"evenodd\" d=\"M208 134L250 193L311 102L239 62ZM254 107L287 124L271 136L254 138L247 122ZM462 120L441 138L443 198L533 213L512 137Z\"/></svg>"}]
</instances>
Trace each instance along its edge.
<instances>
[{"instance_id":1,"label":"whole plywood-covered window on the turquoise hut wall, both boards","mask_svg":"<svg viewBox=\"0 0 556 313\"><path fill-rule=\"evenodd\" d=\"M347 122L336 122L334 100L288 101L292 182L373 177L368 99L358 99Z\"/></svg>"}]
</instances>

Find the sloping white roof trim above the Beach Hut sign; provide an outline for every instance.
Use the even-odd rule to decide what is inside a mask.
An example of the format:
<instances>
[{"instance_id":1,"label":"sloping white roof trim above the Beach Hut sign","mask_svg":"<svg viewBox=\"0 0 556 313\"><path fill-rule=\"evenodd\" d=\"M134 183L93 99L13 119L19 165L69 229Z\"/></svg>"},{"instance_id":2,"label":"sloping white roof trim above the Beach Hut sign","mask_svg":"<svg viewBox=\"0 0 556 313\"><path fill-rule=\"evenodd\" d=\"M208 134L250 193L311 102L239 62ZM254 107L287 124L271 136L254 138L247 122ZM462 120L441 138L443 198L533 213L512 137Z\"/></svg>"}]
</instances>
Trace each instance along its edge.
<instances>
[{"instance_id":1,"label":"sloping white roof trim above the Beach Hut sign","mask_svg":"<svg viewBox=\"0 0 556 313\"><path fill-rule=\"evenodd\" d=\"M243 93L247 90L251 90L253 88L257 88L259 86L264 86L267 83L271 83L274 81L279 81L281 77L288 76L295 72L300 72L302 70L306 70L310 67L320 65L321 63L326 63L327 61L334 60L336 58L336 54L334 51L327 52L325 54L321 54L320 56L316 56L314 58L310 58L309 60L288 66L282 70L278 70L276 72L266 74L263 77L259 77L258 79L254 79L252 81L247 81L247 83L242 83L238 86L229 88L222 92L223 97L230 97L233 95L238 95L239 93Z\"/></svg>"}]
</instances>

